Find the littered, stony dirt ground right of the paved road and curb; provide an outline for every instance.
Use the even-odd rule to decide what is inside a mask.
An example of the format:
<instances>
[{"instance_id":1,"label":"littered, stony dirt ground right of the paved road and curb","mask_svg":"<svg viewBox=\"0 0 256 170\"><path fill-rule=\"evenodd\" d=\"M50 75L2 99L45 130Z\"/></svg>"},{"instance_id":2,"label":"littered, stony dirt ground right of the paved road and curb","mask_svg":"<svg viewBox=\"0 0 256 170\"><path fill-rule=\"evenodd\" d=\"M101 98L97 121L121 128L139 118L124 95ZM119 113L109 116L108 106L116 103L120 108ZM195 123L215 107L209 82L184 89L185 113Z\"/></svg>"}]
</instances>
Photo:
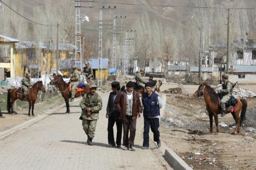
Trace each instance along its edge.
<instances>
[{"instance_id":1,"label":"littered, stony dirt ground right of the paved road and curb","mask_svg":"<svg viewBox=\"0 0 256 170\"><path fill-rule=\"evenodd\" d=\"M167 84L164 87L170 88ZM193 94L198 86L182 85L181 88L187 94ZM256 85L242 88L256 92ZM231 135L234 129L230 127L220 127L220 133L214 135L215 123L212 135L208 135L210 123L203 98L184 94L167 95L166 110L160 123L161 140L196 170L255 170L256 133L244 129L256 128L256 98L246 98L246 101L246 120L239 135ZM234 119L229 113L218 119L218 123L222 122L230 125Z\"/></svg>"}]
</instances>

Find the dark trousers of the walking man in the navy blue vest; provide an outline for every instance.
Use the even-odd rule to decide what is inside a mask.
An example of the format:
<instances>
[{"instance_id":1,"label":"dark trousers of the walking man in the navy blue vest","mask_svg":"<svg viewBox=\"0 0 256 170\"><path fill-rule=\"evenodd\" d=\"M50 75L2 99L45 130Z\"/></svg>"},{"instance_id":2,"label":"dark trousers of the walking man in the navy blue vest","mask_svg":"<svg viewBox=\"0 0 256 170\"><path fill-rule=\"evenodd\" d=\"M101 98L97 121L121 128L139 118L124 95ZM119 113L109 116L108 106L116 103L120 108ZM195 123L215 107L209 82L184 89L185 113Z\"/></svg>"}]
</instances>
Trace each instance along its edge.
<instances>
[{"instance_id":1,"label":"dark trousers of the walking man in the navy blue vest","mask_svg":"<svg viewBox=\"0 0 256 170\"><path fill-rule=\"evenodd\" d=\"M143 147L149 147L149 127L154 133L154 141L160 141L159 118L145 118L144 117L144 133L143 133Z\"/></svg>"}]
</instances>

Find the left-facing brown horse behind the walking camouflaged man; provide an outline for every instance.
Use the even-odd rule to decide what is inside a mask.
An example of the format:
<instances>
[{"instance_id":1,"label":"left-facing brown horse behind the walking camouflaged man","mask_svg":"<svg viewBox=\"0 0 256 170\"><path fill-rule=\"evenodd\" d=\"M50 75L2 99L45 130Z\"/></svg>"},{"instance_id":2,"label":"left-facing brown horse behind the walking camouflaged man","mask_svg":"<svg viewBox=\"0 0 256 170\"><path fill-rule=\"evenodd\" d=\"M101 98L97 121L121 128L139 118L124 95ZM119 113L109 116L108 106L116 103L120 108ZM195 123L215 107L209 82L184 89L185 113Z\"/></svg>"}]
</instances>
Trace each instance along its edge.
<instances>
[{"instance_id":1,"label":"left-facing brown horse behind the walking camouflaged man","mask_svg":"<svg viewBox=\"0 0 256 170\"><path fill-rule=\"evenodd\" d=\"M70 113L70 109L69 109L69 101L68 99L71 98L71 92L69 92L69 84L66 83L62 76L58 75L55 76L53 80L51 80L50 82L51 85L55 84L56 87L59 88L59 91L62 94L62 97L64 98L65 102L66 102L66 107L67 107L67 111L66 113ZM79 96L84 96L84 94L88 93L90 91L90 85L89 84L85 84L85 88L83 91L81 92L76 92L75 98L79 97Z\"/></svg>"}]
</instances>

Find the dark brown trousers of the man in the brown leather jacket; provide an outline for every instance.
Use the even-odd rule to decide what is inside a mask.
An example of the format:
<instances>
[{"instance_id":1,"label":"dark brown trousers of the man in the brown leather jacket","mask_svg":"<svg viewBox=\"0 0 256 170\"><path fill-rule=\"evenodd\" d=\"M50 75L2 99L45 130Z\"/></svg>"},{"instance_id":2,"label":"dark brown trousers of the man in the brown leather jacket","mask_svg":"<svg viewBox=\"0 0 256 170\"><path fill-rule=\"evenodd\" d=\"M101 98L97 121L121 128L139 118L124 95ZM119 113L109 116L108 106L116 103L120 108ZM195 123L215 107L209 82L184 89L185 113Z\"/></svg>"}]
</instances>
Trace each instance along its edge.
<instances>
[{"instance_id":1,"label":"dark brown trousers of the man in the brown leather jacket","mask_svg":"<svg viewBox=\"0 0 256 170\"><path fill-rule=\"evenodd\" d=\"M123 136L123 145L134 145L134 138L136 134L136 121L137 119L132 119L132 116L125 116L123 120L123 129L124 129L124 136ZM129 137L129 130L130 130L130 137Z\"/></svg>"}]
</instances>

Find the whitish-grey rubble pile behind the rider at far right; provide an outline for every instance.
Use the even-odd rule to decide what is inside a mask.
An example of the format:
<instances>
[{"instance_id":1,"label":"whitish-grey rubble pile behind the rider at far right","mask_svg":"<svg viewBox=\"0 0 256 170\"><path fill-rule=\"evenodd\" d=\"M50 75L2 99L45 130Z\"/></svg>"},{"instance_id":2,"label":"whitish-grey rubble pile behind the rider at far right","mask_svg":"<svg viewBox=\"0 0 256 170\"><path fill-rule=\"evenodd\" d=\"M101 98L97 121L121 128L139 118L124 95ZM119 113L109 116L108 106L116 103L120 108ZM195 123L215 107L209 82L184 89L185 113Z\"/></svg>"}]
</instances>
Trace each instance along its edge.
<instances>
[{"instance_id":1,"label":"whitish-grey rubble pile behind the rider at far right","mask_svg":"<svg viewBox=\"0 0 256 170\"><path fill-rule=\"evenodd\" d=\"M215 87L215 90L217 89L222 89L222 86L221 84L217 85ZM233 88L233 93L232 95L235 97L235 98L248 98L248 97L255 97L256 96L256 93L250 91L250 90L245 90L239 86L235 86Z\"/></svg>"}]
</instances>

